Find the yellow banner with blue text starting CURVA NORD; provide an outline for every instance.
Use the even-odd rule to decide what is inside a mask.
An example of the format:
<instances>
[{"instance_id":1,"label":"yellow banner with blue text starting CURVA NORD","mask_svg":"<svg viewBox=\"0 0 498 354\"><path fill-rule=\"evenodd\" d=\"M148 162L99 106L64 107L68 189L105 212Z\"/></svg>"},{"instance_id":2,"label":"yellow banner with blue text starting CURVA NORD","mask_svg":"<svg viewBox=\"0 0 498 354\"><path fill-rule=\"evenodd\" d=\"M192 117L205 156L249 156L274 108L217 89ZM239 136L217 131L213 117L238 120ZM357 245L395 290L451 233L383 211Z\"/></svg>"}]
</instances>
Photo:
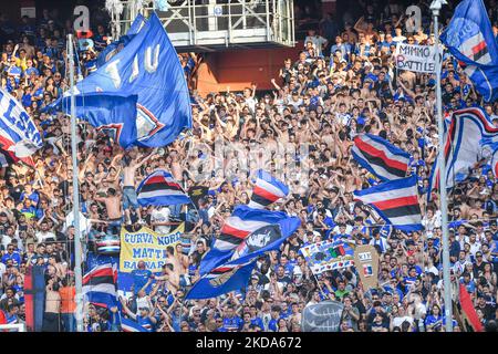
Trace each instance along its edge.
<instances>
[{"instance_id":1,"label":"yellow banner with blue text starting CURVA NORD","mask_svg":"<svg viewBox=\"0 0 498 354\"><path fill-rule=\"evenodd\" d=\"M121 229L120 271L131 273L139 261L144 261L146 269L160 272L166 264L168 247L175 250L180 242L180 236L185 231L185 223L180 223L169 233L157 233L148 228L142 228L136 232Z\"/></svg>"}]
</instances>

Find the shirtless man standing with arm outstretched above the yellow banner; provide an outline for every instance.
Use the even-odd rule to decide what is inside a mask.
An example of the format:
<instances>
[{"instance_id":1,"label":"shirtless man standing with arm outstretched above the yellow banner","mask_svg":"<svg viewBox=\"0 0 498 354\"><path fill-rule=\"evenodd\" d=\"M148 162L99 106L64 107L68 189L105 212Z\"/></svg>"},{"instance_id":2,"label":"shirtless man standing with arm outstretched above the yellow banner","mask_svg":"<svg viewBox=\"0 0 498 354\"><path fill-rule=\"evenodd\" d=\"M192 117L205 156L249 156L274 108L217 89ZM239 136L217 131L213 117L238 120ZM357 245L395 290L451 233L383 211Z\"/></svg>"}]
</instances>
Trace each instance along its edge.
<instances>
[{"instance_id":1,"label":"shirtless man standing with arm outstretched above the yellow banner","mask_svg":"<svg viewBox=\"0 0 498 354\"><path fill-rule=\"evenodd\" d=\"M133 158L133 155L135 155L135 158ZM151 153L145 158L138 158L136 153L132 152L128 156L123 157L123 209L125 210L126 223L128 225L132 223L129 207L135 209L138 216L138 223L144 223L135 190L135 173L153 157L158 157L158 155Z\"/></svg>"}]
</instances>

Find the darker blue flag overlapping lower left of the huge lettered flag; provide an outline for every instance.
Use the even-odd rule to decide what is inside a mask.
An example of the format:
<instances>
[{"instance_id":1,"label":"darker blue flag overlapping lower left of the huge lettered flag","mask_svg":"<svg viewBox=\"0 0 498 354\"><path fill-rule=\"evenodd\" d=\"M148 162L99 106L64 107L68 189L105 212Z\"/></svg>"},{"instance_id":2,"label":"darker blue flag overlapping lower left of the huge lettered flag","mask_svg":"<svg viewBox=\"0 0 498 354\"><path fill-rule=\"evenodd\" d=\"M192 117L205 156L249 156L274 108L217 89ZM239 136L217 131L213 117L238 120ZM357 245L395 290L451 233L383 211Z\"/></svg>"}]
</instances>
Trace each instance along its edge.
<instances>
[{"instance_id":1,"label":"darker blue flag overlapping lower left of the huge lettered flag","mask_svg":"<svg viewBox=\"0 0 498 354\"><path fill-rule=\"evenodd\" d=\"M121 94L89 93L75 96L76 117L87 121L98 131L112 133L121 146L127 148L135 142L136 125L126 124L136 117L138 96ZM63 97L64 112L70 114L71 97Z\"/></svg>"}]
</instances>

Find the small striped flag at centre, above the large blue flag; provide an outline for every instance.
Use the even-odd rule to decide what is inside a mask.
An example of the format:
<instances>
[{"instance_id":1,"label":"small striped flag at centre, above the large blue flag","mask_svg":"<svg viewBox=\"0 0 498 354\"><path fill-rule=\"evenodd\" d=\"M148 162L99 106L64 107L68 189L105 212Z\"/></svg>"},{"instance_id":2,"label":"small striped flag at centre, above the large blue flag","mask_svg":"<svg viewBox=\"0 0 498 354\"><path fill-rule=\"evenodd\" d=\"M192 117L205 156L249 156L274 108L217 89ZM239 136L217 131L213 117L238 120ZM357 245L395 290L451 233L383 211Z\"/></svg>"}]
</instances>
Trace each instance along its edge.
<instances>
[{"instance_id":1,"label":"small striped flag at centre, above the large blue flag","mask_svg":"<svg viewBox=\"0 0 498 354\"><path fill-rule=\"evenodd\" d=\"M255 188L248 206L255 209L264 209L280 198L289 194L289 187L271 176L269 173L259 169L257 171Z\"/></svg>"}]
</instances>

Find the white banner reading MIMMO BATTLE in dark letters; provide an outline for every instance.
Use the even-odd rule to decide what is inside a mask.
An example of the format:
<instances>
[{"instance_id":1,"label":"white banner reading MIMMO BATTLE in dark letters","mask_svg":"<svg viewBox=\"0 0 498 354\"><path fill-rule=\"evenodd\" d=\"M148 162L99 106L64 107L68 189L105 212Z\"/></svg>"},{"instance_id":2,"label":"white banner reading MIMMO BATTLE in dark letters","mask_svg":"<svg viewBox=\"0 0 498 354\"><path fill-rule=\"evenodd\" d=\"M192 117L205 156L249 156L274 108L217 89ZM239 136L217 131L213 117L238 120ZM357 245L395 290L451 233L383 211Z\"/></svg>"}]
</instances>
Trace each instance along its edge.
<instances>
[{"instance_id":1,"label":"white banner reading MIMMO BATTLE in dark letters","mask_svg":"<svg viewBox=\"0 0 498 354\"><path fill-rule=\"evenodd\" d=\"M440 56L440 55L439 55ZM396 67L417 73L436 72L436 46L397 43Z\"/></svg>"}]
</instances>

